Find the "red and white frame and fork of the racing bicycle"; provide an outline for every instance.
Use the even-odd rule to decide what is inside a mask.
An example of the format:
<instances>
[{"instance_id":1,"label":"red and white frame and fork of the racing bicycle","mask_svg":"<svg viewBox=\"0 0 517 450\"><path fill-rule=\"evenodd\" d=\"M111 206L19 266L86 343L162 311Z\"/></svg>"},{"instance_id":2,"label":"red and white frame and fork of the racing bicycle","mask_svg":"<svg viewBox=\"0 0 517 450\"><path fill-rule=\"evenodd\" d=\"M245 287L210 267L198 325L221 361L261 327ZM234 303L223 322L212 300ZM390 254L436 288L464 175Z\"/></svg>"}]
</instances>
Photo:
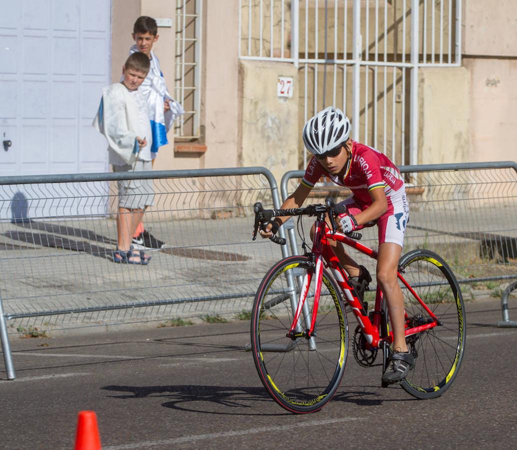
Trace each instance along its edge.
<instances>
[{"instance_id":1,"label":"red and white frame and fork of the racing bicycle","mask_svg":"<svg viewBox=\"0 0 517 450\"><path fill-rule=\"evenodd\" d=\"M315 268L314 273L311 271L307 271L305 276L303 277L303 281L301 284L300 289L300 295L298 298L298 304L296 306L293 322L290 328L290 331L288 333L288 337L291 337L292 339L296 339L299 337L305 337L307 339L310 339L312 336L315 335L314 327L316 324L316 316L317 316L317 309L318 304L320 302L320 294L321 294L321 283L322 283L322 277L323 277L323 268L324 264L326 263L328 267L332 269L334 278L338 282L339 286L341 287L346 301L348 305L352 308L352 311L354 313L354 316L360 325L362 332L364 334L364 337L366 338L367 347L370 348L381 348L384 343L391 344L393 342L393 333L389 332L387 329L383 332L382 330L382 319L383 319L383 294L381 289L377 286L376 294L375 294L375 307L373 309L373 323L372 320L370 320L369 314L364 309L364 306L360 299L357 297L355 293L355 289L349 284L348 282L348 275L344 271L343 267L341 266L339 259L337 258L336 254L332 251L332 248L330 244L328 243L328 240L331 239L332 241L341 242L345 244L348 247L352 247L356 249L357 251L366 254L372 259L377 259L377 252L375 250L372 250L371 248L360 244L357 241L354 241L354 239L349 238L348 236L336 232L333 233L327 226L324 220L321 218L316 219L316 226L315 226L315 233L314 233L314 239L313 239L313 245L311 249L311 253L314 255L315 260ZM316 288L314 292L314 307L312 310L312 317L310 322L309 329L306 329L306 331L303 332L297 332L297 328L299 329L299 320L300 320L300 314L302 312L303 305L305 304L305 301L307 299L307 295L309 293L309 287L311 284L311 280L313 276L316 276ZM409 283L404 279L400 272L400 268L397 271L397 277L399 280L404 284L406 289L415 297L415 299L422 305L425 311L429 314L430 318L432 319L431 322L421 324L418 326L410 327L407 321L407 313L405 314L406 317L406 329L405 329L405 335L410 336L416 333L421 333L427 329L434 328L437 325L441 325L440 321L436 318L435 314L430 310L430 308L425 305L425 303L422 301L422 299L418 296L418 294L415 292L415 290L409 285Z\"/></svg>"}]
</instances>

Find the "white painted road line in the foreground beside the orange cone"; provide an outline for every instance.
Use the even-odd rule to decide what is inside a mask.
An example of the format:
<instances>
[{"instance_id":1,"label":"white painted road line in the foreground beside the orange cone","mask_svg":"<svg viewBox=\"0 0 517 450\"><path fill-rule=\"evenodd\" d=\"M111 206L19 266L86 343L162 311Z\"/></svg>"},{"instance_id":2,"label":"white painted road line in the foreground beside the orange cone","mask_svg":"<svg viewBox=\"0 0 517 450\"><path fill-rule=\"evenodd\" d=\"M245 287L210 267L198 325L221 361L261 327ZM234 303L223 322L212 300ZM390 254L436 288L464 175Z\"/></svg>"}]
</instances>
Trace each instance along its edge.
<instances>
[{"instance_id":1,"label":"white painted road line in the foreground beside the orange cone","mask_svg":"<svg viewBox=\"0 0 517 450\"><path fill-rule=\"evenodd\" d=\"M358 420L359 420L359 417L341 417L341 418L335 418L335 419L323 419L321 421L302 422L302 423L292 424L292 425L250 428L247 430L221 431L220 433L193 434L192 436L184 436L183 438L163 439L160 441L135 442L133 444L110 445L110 446L103 446L102 448L104 448L104 450L126 450L129 448L146 448L146 447L153 448L158 445L171 446L174 444L202 441L205 439L230 438L232 436L245 436L246 434L255 434L255 433L262 433L262 432L270 433L271 431L286 431L286 430L292 430L292 429L296 429L296 428L317 427L317 426L321 426L321 425L339 424L342 422L351 422L351 421L358 421Z\"/></svg>"}]
</instances>

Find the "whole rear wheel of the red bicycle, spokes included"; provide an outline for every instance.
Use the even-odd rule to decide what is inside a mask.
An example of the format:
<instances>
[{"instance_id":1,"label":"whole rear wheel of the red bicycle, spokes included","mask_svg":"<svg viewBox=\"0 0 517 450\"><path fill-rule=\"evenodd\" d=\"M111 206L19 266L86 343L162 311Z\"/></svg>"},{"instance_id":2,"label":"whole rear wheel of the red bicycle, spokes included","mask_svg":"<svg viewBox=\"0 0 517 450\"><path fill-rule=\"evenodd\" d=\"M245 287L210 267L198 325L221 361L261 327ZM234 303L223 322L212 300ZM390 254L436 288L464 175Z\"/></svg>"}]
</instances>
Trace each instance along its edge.
<instances>
[{"instance_id":1,"label":"whole rear wheel of the red bicycle, spokes included","mask_svg":"<svg viewBox=\"0 0 517 450\"><path fill-rule=\"evenodd\" d=\"M451 268L432 251L411 251L401 258L400 266L405 280L441 322L406 338L416 364L401 385L420 399L439 397L458 375L465 351L465 308L460 286ZM404 286L402 292L407 325L429 323L429 314L413 294Z\"/></svg>"}]
</instances>

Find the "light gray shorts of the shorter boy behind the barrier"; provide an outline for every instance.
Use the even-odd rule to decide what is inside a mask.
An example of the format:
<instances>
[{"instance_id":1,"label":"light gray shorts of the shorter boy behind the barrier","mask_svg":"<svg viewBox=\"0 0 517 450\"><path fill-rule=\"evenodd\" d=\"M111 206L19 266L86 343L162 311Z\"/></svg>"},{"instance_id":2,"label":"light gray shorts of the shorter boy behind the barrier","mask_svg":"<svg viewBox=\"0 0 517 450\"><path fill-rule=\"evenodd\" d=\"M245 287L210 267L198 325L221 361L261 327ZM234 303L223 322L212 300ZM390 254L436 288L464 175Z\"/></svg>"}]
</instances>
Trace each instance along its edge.
<instances>
[{"instance_id":1,"label":"light gray shorts of the shorter boy behind the barrier","mask_svg":"<svg viewBox=\"0 0 517 450\"><path fill-rule=\"evenodd\" d=\"M143 172L153 170L151 161L136 161L124 166L113 165L114 172ZM117 181L118 207L126 209L145 209L154 204L155 192L152 179L123 179Z\"/></svg>"}]
</instances>

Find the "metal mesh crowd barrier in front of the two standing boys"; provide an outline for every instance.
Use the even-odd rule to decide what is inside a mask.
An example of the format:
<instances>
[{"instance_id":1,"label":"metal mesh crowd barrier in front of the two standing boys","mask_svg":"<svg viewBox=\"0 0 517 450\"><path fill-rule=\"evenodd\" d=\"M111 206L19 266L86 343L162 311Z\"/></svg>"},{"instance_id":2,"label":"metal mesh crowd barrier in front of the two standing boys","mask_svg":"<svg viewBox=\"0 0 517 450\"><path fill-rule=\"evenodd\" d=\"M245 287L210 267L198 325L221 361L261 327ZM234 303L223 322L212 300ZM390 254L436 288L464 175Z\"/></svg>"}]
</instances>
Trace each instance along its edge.
<instances>
[{"instance_id":1,"label":"metal mesh crowd barrier in front of the two standing boys","mask_svg":"<svg viewBox=\"0 0 517 450\"><path fill-rule=\"evenodd\" d=\"M116 264L116 181L154 179L148 265ZM236 313L285 246L251 240L252 207L279 207L262 167L0 177L0 338L8 332ZM283 235L282 231L282 235ZM284 236L285 237L285 236Z\"/></svg>"}]
</instances>

